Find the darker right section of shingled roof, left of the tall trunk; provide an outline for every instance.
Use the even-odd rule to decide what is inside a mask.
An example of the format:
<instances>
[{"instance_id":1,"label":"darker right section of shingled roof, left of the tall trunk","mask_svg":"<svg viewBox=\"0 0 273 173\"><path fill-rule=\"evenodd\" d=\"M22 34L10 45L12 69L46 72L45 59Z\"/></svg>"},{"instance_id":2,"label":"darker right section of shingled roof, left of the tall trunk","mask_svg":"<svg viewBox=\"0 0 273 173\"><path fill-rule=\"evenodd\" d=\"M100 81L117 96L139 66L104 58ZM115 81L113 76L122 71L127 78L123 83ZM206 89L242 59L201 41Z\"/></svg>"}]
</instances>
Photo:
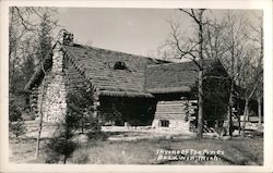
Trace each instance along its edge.
<instances>
[{"instance_id":1,"label":"darker right section of shingled roof, left of the tall trunk","mask_svg":"<svg viewBox=\"0 0 273 173\"><path fill-rule=\"evenodd\" d=\"M204 60L204 69L213 62ZM193 61L150 65L145 71L145 90L151 94L189 92L198 82L198 71Z\"/></svg>"}]
</instances>

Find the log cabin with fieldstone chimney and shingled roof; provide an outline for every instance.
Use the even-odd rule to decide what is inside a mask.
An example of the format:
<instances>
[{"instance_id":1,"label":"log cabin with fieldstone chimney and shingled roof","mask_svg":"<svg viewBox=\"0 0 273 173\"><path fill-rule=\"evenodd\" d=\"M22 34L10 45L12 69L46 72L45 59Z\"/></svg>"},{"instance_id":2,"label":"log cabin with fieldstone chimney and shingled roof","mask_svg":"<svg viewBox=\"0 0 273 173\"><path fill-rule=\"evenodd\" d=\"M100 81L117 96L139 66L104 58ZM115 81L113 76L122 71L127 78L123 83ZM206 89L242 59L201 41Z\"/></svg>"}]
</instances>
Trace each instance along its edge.
<instances>
[{"instance_id":1,"label":"log cabin with fieldstone chimney and shingled roof","mask_svg":"<svg viewBox=\"0 0 273 173\"><path fill-rule=\"evenodd\" d=\"M205 70L219 62L205 60ZM189 131L197 115L198 69L73 42L60 32L52 50L25 86L31 110L45 122L64 120L71 102L87 97L92 118L102 124L181 127ZM84 90L84 96L82 95ZM71 99L69 96L78 99Z\"/></svg>"}]
</instances>

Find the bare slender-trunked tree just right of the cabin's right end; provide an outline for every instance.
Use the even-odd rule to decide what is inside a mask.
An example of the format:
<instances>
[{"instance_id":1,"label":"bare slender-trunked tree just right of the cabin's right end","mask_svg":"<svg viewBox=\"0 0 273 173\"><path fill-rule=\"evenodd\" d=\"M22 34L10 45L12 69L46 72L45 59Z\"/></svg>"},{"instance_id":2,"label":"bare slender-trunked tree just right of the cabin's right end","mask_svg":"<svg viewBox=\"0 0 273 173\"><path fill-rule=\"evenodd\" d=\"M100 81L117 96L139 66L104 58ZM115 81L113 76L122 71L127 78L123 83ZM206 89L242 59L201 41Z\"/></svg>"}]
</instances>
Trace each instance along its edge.
<instances>
[{"instance_id":1,"label":"bare slender-trunked tree just right of the cabin's right end","mask_svg":"<svg viewBox=\"0 0 273 173\"><path fill-rule=\"evenodd\" d=\"M249 42L247 39L247 27L246 18L228 11L223 20L225 23L223 28L223 47L224 52L218 57L218 59L225 65L230 78L229 87L229 99L227 106L227 116L225 122L225 127L227 128L228 135L233 135L233 107L235 104L235 86L240 85L239 78L244 70L248 65L249 59L247 59ZM240 118L237 116L240 122ZM240 123L239 123L240 124ZM240 129L240 125L239 125Z\"/></svg>"}]
</instances>

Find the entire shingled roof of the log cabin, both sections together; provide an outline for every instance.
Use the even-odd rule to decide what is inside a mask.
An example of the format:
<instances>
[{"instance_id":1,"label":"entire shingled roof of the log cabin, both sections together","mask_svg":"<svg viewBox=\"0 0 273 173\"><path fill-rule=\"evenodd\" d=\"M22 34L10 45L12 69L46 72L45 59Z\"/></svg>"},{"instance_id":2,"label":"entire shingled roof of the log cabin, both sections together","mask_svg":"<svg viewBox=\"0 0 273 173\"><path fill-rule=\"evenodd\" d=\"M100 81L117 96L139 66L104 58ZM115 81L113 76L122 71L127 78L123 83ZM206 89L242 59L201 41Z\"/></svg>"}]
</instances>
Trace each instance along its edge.
<instances>
[{"instance_id":1,"label":"entire shingled roof of the log cabin, both sections together","mask_svg":"<svg viewBox=\"0 0 273 173\"><path fill-rule=\"evenodd\" d=\"M60 45L67 60L88 81L100 96L153 97L153 94L188 92L195 86L198 66L194 62L170 63L152 58L106 50L82 45ZM51 69L52 54L45 59L44 69ZM204 61L209 69L213 60ZM116 69L122 64L121 69ZM38 85L44 77L39 67L32 76L26 90ZM75 83L82 83L74 78Z\"/></svg>"}]
</instances>

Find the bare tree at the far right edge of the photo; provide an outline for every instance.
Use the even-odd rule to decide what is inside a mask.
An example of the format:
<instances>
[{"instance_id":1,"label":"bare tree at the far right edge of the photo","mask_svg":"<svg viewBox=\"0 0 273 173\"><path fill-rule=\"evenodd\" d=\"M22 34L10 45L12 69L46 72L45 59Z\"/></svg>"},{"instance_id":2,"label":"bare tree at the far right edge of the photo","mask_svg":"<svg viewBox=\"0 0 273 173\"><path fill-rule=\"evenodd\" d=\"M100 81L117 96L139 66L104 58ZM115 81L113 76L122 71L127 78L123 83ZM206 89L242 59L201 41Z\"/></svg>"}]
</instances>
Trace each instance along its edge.
<instances>
[{"instance_id":1,"label":"bare tree at the far right edge of the photo","mask_svg":"<svg viewBox=\"0 0 273 173\"><path fill-rule=\"evenodd\" d=\"M256 98L258 100L258 115L259 115L259 125L262 121L262 108L261 108L261 98L263 94L263 26L262 17L257 17L259 21L257 26L253 26L249 23L250 32L247 35L250 48L247 54L248 66L244 70L242 76L240 78L241 86L244 88L244 99L245 99L245 109L244 109L244 123L241 136L245 136L246 121L249 119L249 102L251 99Z\"/></svg>"}]
</instances>

